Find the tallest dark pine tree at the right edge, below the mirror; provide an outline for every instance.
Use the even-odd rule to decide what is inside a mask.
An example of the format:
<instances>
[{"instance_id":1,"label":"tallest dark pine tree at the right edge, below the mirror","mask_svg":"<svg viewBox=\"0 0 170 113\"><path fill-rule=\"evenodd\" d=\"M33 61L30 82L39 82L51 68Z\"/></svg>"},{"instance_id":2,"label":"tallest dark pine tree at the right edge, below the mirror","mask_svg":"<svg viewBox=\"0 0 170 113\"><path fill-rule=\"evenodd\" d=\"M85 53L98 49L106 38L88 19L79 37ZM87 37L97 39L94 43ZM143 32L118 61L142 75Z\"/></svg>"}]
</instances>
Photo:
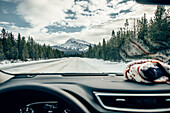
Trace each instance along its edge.
<instances>
[{"instance_id":1,"label":"tallest dark pine tree at the right edge, below the mirror","mask_svg":"<svg viewBox=\"0 0 170 113\"><path fill-rule=\"evenodd\" d=\"M170 45L170 24L165 6L158 5L155 11L155 17L149 26L149 37L152 41L165 41ZM164 46L165 47L165 46Z\"/></svg>"}]
</instances>

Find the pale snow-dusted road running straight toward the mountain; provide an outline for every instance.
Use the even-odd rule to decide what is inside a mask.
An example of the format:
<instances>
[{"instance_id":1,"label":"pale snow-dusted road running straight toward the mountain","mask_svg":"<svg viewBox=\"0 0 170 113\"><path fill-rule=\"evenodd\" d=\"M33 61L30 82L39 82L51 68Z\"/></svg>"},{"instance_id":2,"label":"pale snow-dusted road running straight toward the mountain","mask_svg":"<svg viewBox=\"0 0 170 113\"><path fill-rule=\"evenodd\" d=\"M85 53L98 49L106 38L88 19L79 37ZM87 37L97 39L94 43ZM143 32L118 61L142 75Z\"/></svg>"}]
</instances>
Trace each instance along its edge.
<instances>
[{"instance_id":1,"label":"pale snow-dusted road running straight toward the mountain","mask_svg":"<svg viewBox=\"0 0 170 113\"><path fill-rule=\"evenodd\" d=\"M3 69L3 68L2 68ZM7 67L10 73L100 73L101 70L78 57Z\"/></svg>"}]
</instances>

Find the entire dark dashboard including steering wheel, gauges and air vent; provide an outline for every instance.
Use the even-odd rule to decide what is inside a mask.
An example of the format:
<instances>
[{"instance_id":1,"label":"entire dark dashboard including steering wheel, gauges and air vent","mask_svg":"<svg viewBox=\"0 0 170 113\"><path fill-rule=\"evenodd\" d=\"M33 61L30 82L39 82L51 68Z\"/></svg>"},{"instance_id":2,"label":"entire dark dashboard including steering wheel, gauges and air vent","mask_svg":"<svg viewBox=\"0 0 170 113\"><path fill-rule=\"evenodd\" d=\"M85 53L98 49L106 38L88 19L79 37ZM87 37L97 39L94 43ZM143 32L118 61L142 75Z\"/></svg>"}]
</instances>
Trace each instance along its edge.
<instances>
[{"instance_id":1,"label":"entire dark dashboard including steering wheel, gauges and air vent","mask_svg":"<svg viewBox=\"0 0 170 113\"><path fill-rule=\"evenodd\" d=\"M170 85L123 76L36 75L0 85L4 113L170 112Z\"/></svg>"}]
</instances>

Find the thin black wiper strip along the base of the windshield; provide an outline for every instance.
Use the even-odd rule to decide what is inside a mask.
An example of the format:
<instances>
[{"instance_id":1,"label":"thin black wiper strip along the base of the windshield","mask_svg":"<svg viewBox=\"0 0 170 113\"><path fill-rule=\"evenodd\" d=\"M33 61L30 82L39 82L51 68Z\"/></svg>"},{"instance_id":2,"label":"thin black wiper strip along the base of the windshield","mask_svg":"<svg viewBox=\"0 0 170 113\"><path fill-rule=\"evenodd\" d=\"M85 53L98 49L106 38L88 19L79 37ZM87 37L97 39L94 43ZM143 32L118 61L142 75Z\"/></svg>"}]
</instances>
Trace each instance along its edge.
<instances>
[{"instance_id":1,"label":"thin black wiper strip along the base of the windshield","mask_svg":"<svg viewBox=\"0 0 170 113\"><path fill-rule=\"evenodd\" d=\"M37 75L62 75L62 76L123 76L123 73L8 73L0 70L0 72L8 75L14 75L15 77L34 77Z\"/></svg>"}]
</instances>

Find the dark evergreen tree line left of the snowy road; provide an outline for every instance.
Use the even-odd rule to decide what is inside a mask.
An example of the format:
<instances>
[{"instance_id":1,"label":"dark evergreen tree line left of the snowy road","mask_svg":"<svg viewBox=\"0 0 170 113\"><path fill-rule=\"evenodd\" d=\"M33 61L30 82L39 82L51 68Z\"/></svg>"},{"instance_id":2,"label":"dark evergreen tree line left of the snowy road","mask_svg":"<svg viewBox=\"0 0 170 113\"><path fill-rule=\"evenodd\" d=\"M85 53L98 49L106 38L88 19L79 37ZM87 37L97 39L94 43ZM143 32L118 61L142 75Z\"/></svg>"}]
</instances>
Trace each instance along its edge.
<instances>
[{"instance_id":1,"label":"dark evergreen tree line left of the snowy road","mask_svg":"<svg viewBox=\"0 0 170 113\"><path fill-rule=\"evenodd\" d=\"M50 45L40 45L32 37L27 41L24 36L18 33L15 39L12 33L8 33L4 28L1 30L0 37L0 60L38 60L63 57L63 52L52 49Z\"/></svg>"}]
</instances>

